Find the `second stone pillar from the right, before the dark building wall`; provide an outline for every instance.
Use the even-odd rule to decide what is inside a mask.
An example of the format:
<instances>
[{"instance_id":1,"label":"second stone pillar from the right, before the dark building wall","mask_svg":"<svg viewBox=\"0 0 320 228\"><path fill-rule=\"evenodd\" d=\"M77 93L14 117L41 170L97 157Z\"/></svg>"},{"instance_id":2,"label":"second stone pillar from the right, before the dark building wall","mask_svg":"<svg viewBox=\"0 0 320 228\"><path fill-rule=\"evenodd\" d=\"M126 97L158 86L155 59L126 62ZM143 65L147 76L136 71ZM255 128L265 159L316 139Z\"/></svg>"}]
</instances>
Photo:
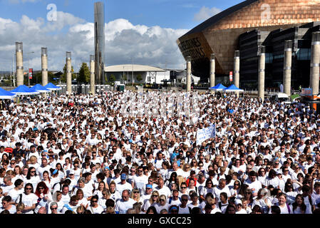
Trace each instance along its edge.
<instances>
[{"instance_id":1,"label":"second stone pillar from the right, before the dark building wall","mask_svg":"<svg viewBox=\"0 0 320 228\"><path fill-rule=\"evenodd\" d=\"M291 95L292 41L284 41L284 93Z\"/></svg>"}]
</instances>

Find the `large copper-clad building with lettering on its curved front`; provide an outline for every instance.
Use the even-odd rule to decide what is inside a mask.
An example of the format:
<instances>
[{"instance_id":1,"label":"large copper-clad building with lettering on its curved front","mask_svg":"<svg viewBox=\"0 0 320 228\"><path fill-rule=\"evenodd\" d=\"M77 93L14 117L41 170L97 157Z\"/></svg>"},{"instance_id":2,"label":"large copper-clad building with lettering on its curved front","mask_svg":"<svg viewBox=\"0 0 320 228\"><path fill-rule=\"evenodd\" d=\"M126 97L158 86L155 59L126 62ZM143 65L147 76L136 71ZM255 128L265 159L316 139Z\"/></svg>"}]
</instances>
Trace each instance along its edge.
<instances>
[{"instance_id":1,"label":"large copper-clad building with lettering on its curved front","mask_svg":"<svg viewBox=\"0 0 320 228\"><path fill-rule=\"evenodd\" d=\"M309 80L308 50L311 31L319 29L316 21L320 21L319 0L247 0L192 28L177 39L177 45L185 59L191 56L192 74L202 82L210 76L211 53L215 53L217 82L233 71L234 51L239 50L240 87L248 88L256 85L258 48L265 45L266 82L272 80L266 86L274 87L282 81L284 40L291 39L296 86L303 75Z\"/></svg>"}]
</instances>

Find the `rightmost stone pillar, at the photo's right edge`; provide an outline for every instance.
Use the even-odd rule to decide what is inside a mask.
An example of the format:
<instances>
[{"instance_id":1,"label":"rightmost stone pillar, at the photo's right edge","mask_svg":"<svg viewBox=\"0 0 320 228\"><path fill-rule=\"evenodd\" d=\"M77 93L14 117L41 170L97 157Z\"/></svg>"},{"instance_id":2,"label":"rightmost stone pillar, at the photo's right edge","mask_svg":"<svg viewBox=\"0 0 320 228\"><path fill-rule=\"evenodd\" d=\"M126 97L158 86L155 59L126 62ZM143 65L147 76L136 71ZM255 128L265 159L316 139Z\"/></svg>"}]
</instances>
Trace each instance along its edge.
<instances>
[{"instance_id":1,"label":"rightmost stone pillar, at the photo's right edge","mask_svg":"<svg viewBox=\"0 0 320 228\"><path fill-rule=\"evenodd\" d=\"M312 94L319 93L319 63L320 63L320 31L312 33L310 60L310 88Z\"/></svg>"}]
</instances>

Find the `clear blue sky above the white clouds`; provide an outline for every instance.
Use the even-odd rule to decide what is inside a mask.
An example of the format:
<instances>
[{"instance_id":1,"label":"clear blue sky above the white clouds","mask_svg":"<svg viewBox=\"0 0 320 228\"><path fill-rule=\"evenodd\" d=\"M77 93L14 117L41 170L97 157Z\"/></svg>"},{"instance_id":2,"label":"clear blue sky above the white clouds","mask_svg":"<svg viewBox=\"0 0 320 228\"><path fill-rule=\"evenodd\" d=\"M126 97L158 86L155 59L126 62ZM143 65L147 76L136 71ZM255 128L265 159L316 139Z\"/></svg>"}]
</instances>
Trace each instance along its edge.
<instances>
[{"instance_id":1,"label":"clear blue sky above the white clouds","mask_svg":"<svg viewBox=\"0 0 320 228\"><path fill-rule=\"evenodd\" d=\"M0 15L18 21L26 14L32 19L46 17L48 4L58 11L68 12L86 21L93 21L93 2L90 0L1 0ZM202 6L227 9L241 0L105 0L106 22L128 19L132 24L190 29L199 24L194 16Z\"/></svg>"}]
</instances>

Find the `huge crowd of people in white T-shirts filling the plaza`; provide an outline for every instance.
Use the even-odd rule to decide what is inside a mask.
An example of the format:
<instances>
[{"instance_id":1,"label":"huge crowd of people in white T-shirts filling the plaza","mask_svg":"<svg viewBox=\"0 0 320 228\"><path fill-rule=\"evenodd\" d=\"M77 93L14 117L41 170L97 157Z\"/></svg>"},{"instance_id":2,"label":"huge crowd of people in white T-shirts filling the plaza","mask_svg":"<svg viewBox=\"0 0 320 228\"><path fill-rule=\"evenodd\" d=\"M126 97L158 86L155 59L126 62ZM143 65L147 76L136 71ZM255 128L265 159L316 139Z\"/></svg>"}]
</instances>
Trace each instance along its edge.
<instances>
[{"instance_id":1,"label":"huge crowd of people in white T-shirts filling the plaza","mask_svg":"<svg viewBox=\"0 0 320 228\"><path fill-rule=\"evenodd\" d=\"M319 115L303 103L160 91L7 101L0 213L316 214L319 149Z\"/></svg>"}]
</instances>

